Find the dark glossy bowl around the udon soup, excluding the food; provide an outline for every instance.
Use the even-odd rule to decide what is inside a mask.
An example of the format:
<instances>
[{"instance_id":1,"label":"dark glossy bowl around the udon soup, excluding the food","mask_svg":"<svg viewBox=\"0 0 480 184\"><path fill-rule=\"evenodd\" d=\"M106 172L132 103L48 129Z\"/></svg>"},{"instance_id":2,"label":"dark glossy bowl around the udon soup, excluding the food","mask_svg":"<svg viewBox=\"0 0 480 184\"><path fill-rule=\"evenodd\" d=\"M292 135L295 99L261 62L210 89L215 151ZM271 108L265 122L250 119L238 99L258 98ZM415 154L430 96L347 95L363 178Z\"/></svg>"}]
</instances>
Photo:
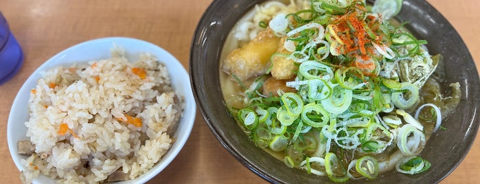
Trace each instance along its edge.
<instances>
[{"instance_id":1,"label":"dark glossy bowl around the udon soup, excluding the food","mask_svg":"<svg viewBox=\"0 0 480 184\"><path fill-rule=\"evenodd\" d=\"M331 183L326 177L287 168L249 141L227 112L219 80L222 46L236 21L262 0L215 0L198 23L190 51L190 76L196 102L212 133L240 163L273 183ZM421 156L431 169L421 174L382 174L375 181L351 183L438 183L450 174L475 140L479 128L479 74L464 41L448 21L426 1L404 0L397 19L409 21L409 30L428 41L431 54L443 54L447 81L461 84L462 98L455 113L426 143ZM350 183L349 182L349 183Z\"/></svg>"}]
</instances>

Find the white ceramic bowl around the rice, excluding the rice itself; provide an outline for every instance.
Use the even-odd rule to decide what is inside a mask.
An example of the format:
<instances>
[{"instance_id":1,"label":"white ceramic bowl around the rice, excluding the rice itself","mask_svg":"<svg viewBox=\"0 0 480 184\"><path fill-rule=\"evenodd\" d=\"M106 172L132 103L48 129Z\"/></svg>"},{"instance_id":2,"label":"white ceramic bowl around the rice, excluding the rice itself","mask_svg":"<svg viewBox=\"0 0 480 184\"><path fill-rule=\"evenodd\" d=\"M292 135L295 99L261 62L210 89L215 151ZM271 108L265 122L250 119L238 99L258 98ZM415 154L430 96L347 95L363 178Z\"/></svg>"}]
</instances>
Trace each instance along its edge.
<instances>
[{"instance_id":1,"label":"white ceramic bowl around the rice, excluding the rice itself","mask_svg":"<svg viewBox=\"0 0 480 184\"><path fill-rule=\"evenodd\" d=\"M38 69L32 73L16 95L12 104L12 109L10 110L10 116L8 117L7 139L10 154L19 170L26 170L26 168L21 165L21 159L27 159L27 156L17 153L16 143L19 140L28 139L25 135L27 127L24 124L29 118L27 109L28 99L30 97L30 89L33 89L36 86L38 78L41 78L40 73L57 66L69 67L74 62L86 62L89 60L110 58L110 49L113 47L114 43L125 49L128 60L137 60L139 54L146 52L153 56L157 56L160 62L163 62L168 69L170 80L172 81L172 87L174 90L178 91L180 95L185 97L186 103L183 117L180 119L176 132L172 135L176 141L174 141L170 150L168 150L161 160L145 174L138 176L137 179L134 179L133 181L123 181L119 183L145 183L159 174L159 172L161 172L161 170L163 170L174 159L174 157L176 157L181 148L183 148L185 142L190 136L190 132L192 131L196 114L196 104L192 95L190 78L183 65L181 65L172 54L168 53L168 51L146 41L119 37L100 38L69 47L47 60L47 62L43 63L41 67L38 67ZM54 183L54 181L47 176L41 175L34 179L34 183Z\"/></svg>"}]
</instances>

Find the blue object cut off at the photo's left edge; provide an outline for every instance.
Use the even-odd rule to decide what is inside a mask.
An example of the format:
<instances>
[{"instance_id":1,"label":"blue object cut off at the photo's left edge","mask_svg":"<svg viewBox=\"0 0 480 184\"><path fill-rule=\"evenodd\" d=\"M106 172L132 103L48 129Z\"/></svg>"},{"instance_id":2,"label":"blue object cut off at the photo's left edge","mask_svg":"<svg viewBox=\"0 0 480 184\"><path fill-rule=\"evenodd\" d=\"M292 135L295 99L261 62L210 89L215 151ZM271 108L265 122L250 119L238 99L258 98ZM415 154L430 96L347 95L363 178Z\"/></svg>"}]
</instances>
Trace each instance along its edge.
<instances>
[{"instance_id":1,"label":"blue object cut off at the photo's left edge","mask_svg":"<svg viewBox=\"0 0 480 184\"><path fill-rule=\"evenodd\" d=\"M0 12L0 85L10 80L23 63L23 52Z\"/></svg>"}]
</instances>

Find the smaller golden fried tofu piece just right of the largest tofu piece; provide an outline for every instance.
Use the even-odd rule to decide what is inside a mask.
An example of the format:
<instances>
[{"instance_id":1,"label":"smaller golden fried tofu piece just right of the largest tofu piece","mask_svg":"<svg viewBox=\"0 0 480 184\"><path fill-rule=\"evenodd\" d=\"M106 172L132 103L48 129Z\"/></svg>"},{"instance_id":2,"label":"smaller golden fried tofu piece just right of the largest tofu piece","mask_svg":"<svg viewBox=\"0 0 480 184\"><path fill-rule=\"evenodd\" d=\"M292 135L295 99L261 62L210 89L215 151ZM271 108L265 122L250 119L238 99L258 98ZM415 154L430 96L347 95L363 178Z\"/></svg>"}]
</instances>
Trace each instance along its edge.
<instances>
[{"instance_id":1,"label":"smaller golden fried tofu piece just right of the largest tofu piece","mask_svg":"<svg viewBox=\"0 0 480 184\"><path fill-rule=\"evenodd\" d=\"M278 80L286 80L295 76L294 71L298 70L298 66L295 65L295 62L291 59L287 59L290 54L290 51L286 50L284 47L286 37L282 38L279 41L279 46L277 54L272 57L272 69L270 73L272 76Z\"/></svg>"}]
</instances>

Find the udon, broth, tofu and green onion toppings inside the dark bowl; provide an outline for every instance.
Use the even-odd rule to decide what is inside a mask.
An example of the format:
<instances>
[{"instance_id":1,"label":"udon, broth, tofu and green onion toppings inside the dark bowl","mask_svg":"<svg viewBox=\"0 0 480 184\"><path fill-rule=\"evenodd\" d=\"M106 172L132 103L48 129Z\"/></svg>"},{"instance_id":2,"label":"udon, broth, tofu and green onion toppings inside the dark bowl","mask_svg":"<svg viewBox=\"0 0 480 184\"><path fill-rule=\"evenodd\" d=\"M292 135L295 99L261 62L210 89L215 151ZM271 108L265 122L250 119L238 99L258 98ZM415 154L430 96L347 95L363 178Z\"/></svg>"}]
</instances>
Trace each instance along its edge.
<instances>
[{"instance_id":1,"label":"udon, broth, tofu and green onion toppings inside the dark bowl","mask_svg":"<svg viewBox=\"0 0 480 184\"><path fill-rule=\"evenodd\" d=\"M398 3L400 2L400 3ZM391 17L401 1L267 1L231 30L220 83L231 115L290 168L336 182L430 168L419 157L459 103L441 55Z\"/></svg>"}]
</instances>

